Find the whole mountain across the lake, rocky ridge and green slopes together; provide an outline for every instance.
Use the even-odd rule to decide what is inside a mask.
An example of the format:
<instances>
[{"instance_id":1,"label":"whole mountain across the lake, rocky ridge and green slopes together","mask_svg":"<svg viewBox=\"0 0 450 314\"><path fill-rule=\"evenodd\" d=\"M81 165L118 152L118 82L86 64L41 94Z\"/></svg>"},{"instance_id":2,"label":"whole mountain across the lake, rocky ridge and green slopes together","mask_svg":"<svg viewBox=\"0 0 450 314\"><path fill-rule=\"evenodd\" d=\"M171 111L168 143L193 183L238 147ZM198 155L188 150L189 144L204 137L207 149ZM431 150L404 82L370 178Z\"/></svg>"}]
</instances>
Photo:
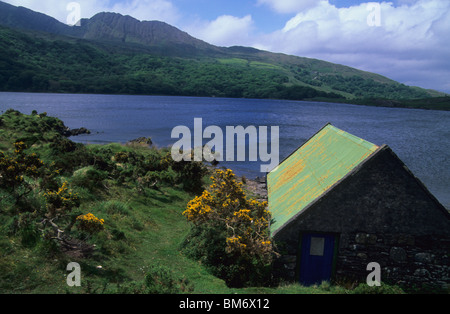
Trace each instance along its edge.
<instances>
[{"instance_id":1,"label":"whole mountain across the lake, rocky ridge and green slopes together","mask_svg":"<svg viewBox=\"0 0 450 314\"><path fill-rule=\"evenodd\" d=\"M160 21L103 12L80 22L72 27L0 2L0 90L336 101L443 96L322 60L217 47Z\"/></svg>"}]
</instances>

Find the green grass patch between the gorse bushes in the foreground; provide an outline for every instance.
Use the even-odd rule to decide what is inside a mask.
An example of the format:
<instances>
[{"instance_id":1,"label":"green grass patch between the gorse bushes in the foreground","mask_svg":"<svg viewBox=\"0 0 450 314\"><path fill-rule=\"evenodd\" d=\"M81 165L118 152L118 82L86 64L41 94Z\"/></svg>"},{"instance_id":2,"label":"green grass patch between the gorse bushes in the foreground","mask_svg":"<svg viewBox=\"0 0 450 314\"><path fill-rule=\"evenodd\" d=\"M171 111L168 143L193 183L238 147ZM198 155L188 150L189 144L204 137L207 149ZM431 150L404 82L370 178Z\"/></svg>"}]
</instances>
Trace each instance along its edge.
<instances>
[{"instance_id":1,"label":"green grass patch between the gorse bushes in the foreground","mask_svg":"<svg viewBox=\"0 0 450 314\"><path fill-rule=\"evenodd\" d=\"M190 228L181 213L191 198L192 195L171 187L161 192L149 191L146 196L115 187L101 199L83 204L84 209L106 221L106 230L89 240L96 244L96 252L89 258L48 256L42 243L26 248L20 237L2 236L0 293L111 293L118 287L142 282L152 265L169 265L176 276L192 283L190 293L194 294L349 293L328 283L311 287L284 284L275 288L228 288L223 280L180 252ZM66 284L69 262L81 266L81 287Z\"/></svg>"}]
</instances>

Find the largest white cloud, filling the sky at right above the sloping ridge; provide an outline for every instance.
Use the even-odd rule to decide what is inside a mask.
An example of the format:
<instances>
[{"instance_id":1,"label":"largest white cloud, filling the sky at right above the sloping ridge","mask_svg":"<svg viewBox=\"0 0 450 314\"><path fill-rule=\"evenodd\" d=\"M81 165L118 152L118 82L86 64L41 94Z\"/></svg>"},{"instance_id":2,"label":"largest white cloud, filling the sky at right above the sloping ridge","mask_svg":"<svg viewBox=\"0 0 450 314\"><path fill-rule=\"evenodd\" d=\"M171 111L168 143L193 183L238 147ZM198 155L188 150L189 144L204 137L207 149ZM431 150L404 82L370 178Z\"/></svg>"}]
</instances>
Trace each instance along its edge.
<instances>
[{"instance_id":1,"label":"largest white cloud, filling the sky at right above the sloping ridge","mask_svg":"<svg viewBox=\"0 0 450 314\"><path fill-rule=\"evenodd\" d=\"M450 92L450 1L403 3L379 2L381 25L376 27L368 25L373 11L367 10L367 3L336 8L320 1L292 17L283 29L259 37L254 46Z\"/></svg>"}]
</instances>

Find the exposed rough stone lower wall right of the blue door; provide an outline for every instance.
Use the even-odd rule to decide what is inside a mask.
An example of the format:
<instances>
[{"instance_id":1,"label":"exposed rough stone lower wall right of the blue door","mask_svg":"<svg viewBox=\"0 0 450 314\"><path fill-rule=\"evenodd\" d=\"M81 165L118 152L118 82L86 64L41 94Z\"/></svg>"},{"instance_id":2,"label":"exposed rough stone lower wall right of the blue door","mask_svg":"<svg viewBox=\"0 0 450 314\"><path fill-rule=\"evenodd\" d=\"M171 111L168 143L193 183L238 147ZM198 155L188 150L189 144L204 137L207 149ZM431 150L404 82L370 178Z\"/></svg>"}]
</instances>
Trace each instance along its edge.
<instances>
[{"instance_id":1,"label":"exposed rough stone lower wall right of the blue door","mask_svg":"<svg viewBox=\"0 0 450 314\"><path fill-rule=\"evenodd\" d=\"M381 281L400 286L450 287L450 239L442 236L351 233L342 239L335 280L365 282L370 262L381 266Z\"/></svg>"}]
</instances>

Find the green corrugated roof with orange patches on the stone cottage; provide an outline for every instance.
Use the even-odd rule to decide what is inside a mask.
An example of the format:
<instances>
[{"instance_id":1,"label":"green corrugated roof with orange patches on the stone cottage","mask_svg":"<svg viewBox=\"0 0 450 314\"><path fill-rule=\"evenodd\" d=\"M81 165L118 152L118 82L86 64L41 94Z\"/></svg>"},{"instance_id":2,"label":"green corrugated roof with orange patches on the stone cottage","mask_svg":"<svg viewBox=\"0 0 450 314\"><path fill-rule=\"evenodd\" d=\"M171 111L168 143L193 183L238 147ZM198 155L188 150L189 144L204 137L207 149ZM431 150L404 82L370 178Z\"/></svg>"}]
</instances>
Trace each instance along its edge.
<instances>
[{"instance_id":1,"label":"green corrugated roof with orange patches on the stone cottage","mask_svg":"<svg viewBox=\"0 0 450 314\"><path fill-rule=\"evenodd\" d=\"M378 146L327 124L267 175L275 234Z\"/></svg>"}]
</instances>

